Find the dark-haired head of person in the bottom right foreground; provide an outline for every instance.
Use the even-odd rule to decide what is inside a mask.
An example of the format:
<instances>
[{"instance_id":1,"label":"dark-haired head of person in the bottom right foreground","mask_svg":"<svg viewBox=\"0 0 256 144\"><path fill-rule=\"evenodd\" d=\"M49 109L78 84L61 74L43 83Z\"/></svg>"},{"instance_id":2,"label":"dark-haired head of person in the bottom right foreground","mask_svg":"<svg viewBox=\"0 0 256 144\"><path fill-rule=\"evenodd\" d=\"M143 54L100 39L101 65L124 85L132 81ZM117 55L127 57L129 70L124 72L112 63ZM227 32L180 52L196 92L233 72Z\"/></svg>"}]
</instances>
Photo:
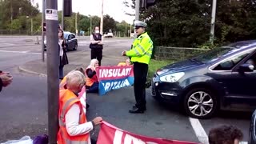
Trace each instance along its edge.
<instances>
[{"instance_id":1,"label":"dark-haired head of person in the bottom right foreground","mask_svg":"<svg viewBox=\"0 0 256 144\"><path fill-rule=\"evenodd\" d=\"M209 144L238 144L240 141L242 131L235 126L219 126L209 133Z\"/></svg>"}]
</instances>

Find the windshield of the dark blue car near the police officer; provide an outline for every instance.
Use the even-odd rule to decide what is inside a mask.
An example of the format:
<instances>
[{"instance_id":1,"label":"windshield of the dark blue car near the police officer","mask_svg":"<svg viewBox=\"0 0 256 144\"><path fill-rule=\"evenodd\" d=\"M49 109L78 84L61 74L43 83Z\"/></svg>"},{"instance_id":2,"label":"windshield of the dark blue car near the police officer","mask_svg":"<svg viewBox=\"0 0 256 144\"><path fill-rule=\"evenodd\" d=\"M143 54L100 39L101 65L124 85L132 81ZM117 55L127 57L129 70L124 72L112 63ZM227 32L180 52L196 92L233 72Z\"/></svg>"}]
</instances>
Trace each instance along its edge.
<instances>
[{"instance_id":1,"label":"windshield of the dark blue car near the police officer","mask_svg":"<svg viewBox=\"0 0 256 144\"><path fill-rule=\"evenodd\" d=\"M206 53L200 54L197 57L194 57L191 59L198 62L207 63L207 62L212 62L218 58L221 58L226 54L230 54L231 52L234 52L236 50L239 50L239 49L235 49L229 46L223 46L223 47L214 48L213 50L209 50Z\"/></svg>"}]
</instances>

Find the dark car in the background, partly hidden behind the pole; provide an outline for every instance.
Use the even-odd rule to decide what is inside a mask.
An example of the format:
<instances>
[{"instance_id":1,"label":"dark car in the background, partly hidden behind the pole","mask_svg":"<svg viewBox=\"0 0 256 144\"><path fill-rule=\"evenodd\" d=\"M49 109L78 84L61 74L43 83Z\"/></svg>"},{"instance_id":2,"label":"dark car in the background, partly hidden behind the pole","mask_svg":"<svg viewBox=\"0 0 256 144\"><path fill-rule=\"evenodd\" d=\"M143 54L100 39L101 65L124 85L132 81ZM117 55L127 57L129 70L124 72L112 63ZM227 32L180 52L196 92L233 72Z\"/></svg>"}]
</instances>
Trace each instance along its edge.
<instances>
[{"instance_id":1,"label":"dark car in the background, partly hidden behind the pole","mask_svg":"<svg viewBox=\"0 0 256 144\"><path fill-rule=\"evenodd\" d=\"M66 39L67 49L66 50L78 50L78 38L75 34L68 31L64 31L64 38ZM45 39L45 50L46 50L46 39Z\"/></svg>"}]
</instances>

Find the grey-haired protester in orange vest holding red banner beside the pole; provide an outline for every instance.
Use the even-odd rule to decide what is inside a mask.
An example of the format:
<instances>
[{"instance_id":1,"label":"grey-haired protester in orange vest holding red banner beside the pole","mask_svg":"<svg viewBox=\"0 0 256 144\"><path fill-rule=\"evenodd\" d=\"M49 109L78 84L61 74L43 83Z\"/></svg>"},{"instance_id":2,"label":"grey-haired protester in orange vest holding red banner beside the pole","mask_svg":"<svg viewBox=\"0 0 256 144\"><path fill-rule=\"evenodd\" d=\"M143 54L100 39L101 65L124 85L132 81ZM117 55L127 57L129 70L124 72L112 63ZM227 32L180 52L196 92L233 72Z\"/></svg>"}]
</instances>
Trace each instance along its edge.
<instances>
[{"instance_id":1,"label":"grey-haired protester in orange vest holding red banner beside the pole","mask_svg":"<svg viewBox=\"0 0 256 144\"><path fill-rule=\"evenodd\" d=\"M102 123L101 117L94 118L91 122L86 120L86 114L78 98L84 84L84 74L75 70L66 75L67 89L59 91L58 144L91 144L89 132L94 130L94 126Z\"/></svg>"}]
</instances>

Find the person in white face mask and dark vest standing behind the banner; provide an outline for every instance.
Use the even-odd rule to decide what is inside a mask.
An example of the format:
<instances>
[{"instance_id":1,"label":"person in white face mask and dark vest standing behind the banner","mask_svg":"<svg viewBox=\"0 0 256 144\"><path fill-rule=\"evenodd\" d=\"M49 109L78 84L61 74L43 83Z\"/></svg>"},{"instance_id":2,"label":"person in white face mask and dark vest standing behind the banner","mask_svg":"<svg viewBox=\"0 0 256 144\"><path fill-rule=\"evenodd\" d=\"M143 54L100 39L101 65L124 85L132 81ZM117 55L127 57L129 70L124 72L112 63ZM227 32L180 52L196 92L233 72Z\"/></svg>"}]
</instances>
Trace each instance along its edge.
<instances>
[{"instance_id":1,"label":"person in white face mask and dark vest standing behind the banner","mask_svg":"<svg viewBox=\"0 0 256 144\"><path fill-rule=\"evenodd\" d=\"M90 59L96 58L98 60L98 66L102 64L102 34L99 33L99 27L96 26L94 33L90 35Z\"/></svg>"}]
</instances>

